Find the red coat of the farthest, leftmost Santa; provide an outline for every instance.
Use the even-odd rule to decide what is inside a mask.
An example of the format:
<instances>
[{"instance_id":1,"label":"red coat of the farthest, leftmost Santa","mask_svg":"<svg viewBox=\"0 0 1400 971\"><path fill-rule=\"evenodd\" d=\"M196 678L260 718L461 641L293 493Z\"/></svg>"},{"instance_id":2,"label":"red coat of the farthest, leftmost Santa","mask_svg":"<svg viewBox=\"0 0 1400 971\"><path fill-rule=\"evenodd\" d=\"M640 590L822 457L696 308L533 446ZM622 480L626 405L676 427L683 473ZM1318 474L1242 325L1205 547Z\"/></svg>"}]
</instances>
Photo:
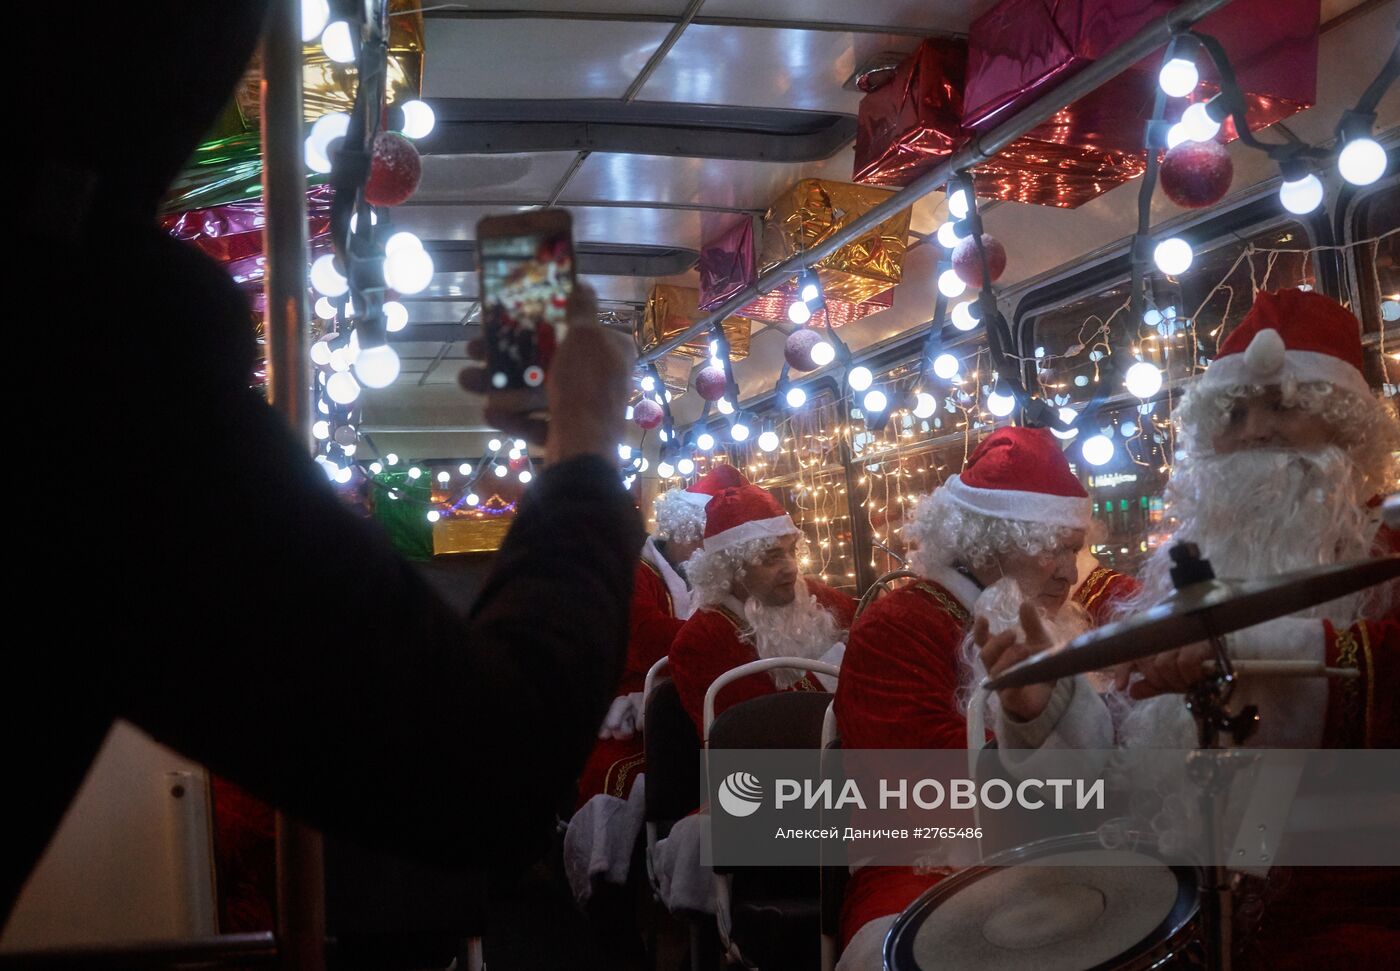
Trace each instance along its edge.
<instances>
[{"instance_id":1,"label":"red coat of the farthest, leftmost Santa","mask_svg":"<svg viewBox=\"0 0 1400 971\"><path fill-rule=\"evenodd\" d=\"M685 620L676 617L676 604L661 571L647 560L637 562L630 623L631 635L627 641L627 662L617 683L619 695L643 690L647 672L666 656L671 641L685 624ZM630 739L599 739L578 777L578 805L582 806L596 795L626 799L633 782L645 768L640 730Z\"/></svg>"}]
</instances>

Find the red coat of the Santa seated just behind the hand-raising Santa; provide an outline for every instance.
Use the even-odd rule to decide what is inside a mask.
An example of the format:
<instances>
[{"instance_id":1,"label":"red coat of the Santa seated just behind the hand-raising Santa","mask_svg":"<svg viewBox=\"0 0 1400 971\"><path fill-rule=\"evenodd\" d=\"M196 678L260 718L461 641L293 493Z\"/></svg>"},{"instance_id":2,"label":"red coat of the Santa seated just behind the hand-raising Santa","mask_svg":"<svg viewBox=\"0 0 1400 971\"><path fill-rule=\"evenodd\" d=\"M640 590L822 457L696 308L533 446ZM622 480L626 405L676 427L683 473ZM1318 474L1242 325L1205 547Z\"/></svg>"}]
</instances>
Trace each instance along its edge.
<instances>
[{"instance_id":1,"label":"red coat of the Santa seated just behind the hand-raising Santa","mask_svg":"<svg viewBox=\"0 0 1400 971\"><path fill-rule=\"evenodd\" d=\"M818 603L836 617L837 625L843 631L848 630L855 616L854 597L813 579L806 579L805 583ZM676 683L680 704L690 715L690 721L694 722L697 733L703 733L704 728L704 693L710 690L714 680L739 665L759 659L757 649L743 639L748 630L748 621L732 609L724 604L710 604L692 614L671 645L671 677ZM727 686L715 698L714 714L718 715L741 701L774 694L777 690L767 673L739 679ZM825 691L826 688L816 677L805 674L785 690Z\"/></svg>"}]
</instances>

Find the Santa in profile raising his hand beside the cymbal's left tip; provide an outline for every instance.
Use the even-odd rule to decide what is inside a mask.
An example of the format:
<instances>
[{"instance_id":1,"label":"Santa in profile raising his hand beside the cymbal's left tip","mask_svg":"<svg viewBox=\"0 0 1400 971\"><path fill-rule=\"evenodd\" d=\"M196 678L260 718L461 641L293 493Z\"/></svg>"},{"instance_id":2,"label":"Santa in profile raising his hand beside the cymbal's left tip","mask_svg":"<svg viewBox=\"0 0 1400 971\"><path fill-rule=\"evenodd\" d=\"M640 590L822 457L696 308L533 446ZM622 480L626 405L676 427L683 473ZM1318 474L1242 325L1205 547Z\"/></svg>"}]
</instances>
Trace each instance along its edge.
<instances>
[{"instance_id":1,"label":"Santa in profile raising his hand beside the cymbal's left tip","mask_svg":"<svg viewBox=\"0 0 1400 971\"><path fill-rule=\"evenodd\" d=\"M1089 495L1049 431L1001 428L983 439L904 526L918 581L875 600L851 630L836 690L841 746L965 749L966 695L981 676L969 638L974 617L1000 630L1025 603L1072 637L1133 592L1130 578L1098 564L1079 575L1091 525ZM843 901L839 967L881 967L895 916L949 872L857 870Z\"/></svg>"}]
</instances>

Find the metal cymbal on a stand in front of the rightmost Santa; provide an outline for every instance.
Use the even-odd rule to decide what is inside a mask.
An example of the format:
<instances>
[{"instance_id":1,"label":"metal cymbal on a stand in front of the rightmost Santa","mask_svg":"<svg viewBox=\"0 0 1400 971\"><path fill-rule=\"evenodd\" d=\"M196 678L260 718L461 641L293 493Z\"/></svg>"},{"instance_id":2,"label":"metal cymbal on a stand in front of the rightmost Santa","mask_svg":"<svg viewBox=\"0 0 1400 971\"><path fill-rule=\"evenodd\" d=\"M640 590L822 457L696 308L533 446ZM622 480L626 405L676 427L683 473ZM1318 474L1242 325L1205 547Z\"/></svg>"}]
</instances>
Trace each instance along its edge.
<instances>
[{"instance_id":1,"label":"metal cymbal on a stand in front of the rightmost Santa","mask_svg":"<svg viewBox=\"0 0 1400 971\"><path fill-rule=\"evenodd\" d=\"M1137 617L1026 658L983 687L1019 688L1221 637L1400 576L1400 554L1299 569L1268 579L1208 579Z\"/></svg>"}]
</instances>

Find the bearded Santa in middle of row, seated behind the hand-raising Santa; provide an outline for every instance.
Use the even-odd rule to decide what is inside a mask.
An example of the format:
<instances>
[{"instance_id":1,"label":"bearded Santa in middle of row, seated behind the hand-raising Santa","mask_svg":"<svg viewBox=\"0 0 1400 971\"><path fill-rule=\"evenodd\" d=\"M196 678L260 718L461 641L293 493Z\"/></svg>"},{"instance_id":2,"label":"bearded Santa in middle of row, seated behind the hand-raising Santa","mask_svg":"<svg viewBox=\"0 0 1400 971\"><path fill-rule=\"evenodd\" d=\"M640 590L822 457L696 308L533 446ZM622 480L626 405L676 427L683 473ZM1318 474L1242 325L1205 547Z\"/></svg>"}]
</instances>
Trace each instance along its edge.
<instances>
[{"instance_id":1,"label":"bearded Santa in middle of row, seated behind the hand-raising Santa","mask_svg":"<svg viewBox=\"0 0 1400 971\"><path fill-rule=\"evenodd\" d=\"M686 562L696 611L671 645L671 677L703 735L704 694L727 670L759 658L839 665L855 600L798 571L804 536L766 490L745 483L706 506L704 543ZM715 715L774 691L825 691L804 672L774 670L729 684Z\"/></svg>"}]
</instances>

